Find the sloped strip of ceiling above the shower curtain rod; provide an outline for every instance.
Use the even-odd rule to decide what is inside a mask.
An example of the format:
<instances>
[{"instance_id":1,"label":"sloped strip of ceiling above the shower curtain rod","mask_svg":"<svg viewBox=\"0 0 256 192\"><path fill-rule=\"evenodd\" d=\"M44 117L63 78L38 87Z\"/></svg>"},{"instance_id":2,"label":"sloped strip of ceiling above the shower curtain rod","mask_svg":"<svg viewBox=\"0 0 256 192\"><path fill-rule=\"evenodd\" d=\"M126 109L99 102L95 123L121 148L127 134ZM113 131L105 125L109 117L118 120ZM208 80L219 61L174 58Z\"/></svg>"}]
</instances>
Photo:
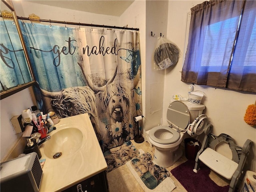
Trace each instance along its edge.
<instances>
[{"instance_id":1,"label":"sloped strip of ceiling above the shower curtain rod","mask_svg":"<svg viewBox=\"0 0 256 192\"><path fill-rule=\"evenodd\" d=\"M120 16L134 0L28 0L32 3L56 6L96 14Z\"/></svg>"}]
</instances>

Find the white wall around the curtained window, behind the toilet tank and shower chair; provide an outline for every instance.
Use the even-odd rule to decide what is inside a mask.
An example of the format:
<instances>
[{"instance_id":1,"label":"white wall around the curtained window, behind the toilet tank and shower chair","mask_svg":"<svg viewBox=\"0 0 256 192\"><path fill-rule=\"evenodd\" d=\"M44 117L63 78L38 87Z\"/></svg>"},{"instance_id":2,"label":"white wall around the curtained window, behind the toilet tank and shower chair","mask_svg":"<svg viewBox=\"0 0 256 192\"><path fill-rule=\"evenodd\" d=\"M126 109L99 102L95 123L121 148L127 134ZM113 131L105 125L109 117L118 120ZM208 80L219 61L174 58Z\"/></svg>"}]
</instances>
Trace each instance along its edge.
<instances>
[{"instance_id":1,"label":"white wall around the curtained window, behind the toilet tank and shower chair","mask_svg":"<svg viewBox=\"0 0 256 192\"><path fill-rule=\"evenodd\" d=\"M169 1L168 10L168 32L167 38L174 42L184 52L186 18L190 8L203 1ZM173 69L167 69L164 84L164 110L163 119L166 122L167 107L173 94L181 94L188 97L189 84L182 82L181 73L182 58ZM256 128L249 126L244 122L244 114L246 108L250 104L254 104L256 100L255 94L246 94L209 86L194 86L194 90L204 92L203 104L206 106L204 111L209 117L213 125L213 134L219 135L225 133L234 138L236 144L243 146L246 139L254 142L250 149L248 158L249 170L256 172Z\"/></svg>"}]
</instances>

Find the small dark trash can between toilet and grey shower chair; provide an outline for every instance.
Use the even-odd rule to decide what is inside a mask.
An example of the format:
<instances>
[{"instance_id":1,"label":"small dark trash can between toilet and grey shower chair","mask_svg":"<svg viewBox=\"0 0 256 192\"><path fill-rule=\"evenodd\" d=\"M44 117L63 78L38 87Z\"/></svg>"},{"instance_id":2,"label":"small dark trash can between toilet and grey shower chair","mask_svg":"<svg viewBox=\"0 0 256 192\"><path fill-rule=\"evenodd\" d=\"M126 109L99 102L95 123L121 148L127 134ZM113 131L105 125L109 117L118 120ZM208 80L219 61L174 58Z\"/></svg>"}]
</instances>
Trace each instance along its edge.
<instances>
[{"instance_id":1,"label":"small dark trash can between toilet and grey shower chair","mask_svg":"<svg viewBox=\"0 0 256 192\"><path fill-rule=\"evenodd\" d=\"M194 144L192 144L192 142L193 143L198 142L199 146L198 145L194 146ZM184 139L184 144L185 144L185 155L186 155L186 158L188 160L195 160L196 159L196 154L200 150L202 144L198 140L196 140L194 138L186 138L186 139Z\"/></svg>"}]
</instances>

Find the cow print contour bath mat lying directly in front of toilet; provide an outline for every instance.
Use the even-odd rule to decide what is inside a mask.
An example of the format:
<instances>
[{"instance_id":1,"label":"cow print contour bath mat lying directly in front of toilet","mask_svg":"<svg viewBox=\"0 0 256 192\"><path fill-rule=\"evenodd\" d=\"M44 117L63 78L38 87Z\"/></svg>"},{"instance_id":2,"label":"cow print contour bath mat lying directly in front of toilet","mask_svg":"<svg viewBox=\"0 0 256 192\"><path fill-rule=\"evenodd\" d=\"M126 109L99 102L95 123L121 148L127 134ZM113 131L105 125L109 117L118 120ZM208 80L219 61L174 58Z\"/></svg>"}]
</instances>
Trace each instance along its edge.
<instances>
[{"instance_id":1,"label":"cow print contour bath mat lying directly in front of toilet","mask_svg":"<svg viewBox=\"0 0 256 192\"><path fill-rule=\"evenodd\" d=\"M152 162L152 157L148 152L132 159L131 165L149 189L156 188L158 184L170 176L170 172L166 168Z\"/></svg>"}]
</instances>

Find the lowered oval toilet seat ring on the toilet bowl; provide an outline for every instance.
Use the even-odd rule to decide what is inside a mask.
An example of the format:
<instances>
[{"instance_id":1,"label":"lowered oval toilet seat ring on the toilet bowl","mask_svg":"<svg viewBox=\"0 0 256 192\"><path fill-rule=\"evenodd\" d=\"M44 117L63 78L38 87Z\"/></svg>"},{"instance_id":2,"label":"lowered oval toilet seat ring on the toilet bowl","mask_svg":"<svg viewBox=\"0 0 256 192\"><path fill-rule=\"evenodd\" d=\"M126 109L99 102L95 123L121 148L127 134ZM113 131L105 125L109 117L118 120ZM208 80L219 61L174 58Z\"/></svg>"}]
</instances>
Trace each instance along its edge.
<instances>
[{"instance_id":1,"label":"lowered oval toilet seat ring on the toilet bowl","mask_svg":"<svg viewBox=\"0 0 256 192\"><path fill-rule=\"evenodd\" d=\"M157 138L156 137L157 132L160 131L160 130L164 130L166 132L171 132L172 135L173 135L172 138L169 138L169 139L159 139L159 138ZM150 130L149 137L154 142L157 142L157 143L160 143L160 144L172 144L172 143L175 143L179 140L180 134L176 130L174 130L174 129L168 127L168 126L156 126L156 127L152 128Z\"/></svg>"}]
</instances>

